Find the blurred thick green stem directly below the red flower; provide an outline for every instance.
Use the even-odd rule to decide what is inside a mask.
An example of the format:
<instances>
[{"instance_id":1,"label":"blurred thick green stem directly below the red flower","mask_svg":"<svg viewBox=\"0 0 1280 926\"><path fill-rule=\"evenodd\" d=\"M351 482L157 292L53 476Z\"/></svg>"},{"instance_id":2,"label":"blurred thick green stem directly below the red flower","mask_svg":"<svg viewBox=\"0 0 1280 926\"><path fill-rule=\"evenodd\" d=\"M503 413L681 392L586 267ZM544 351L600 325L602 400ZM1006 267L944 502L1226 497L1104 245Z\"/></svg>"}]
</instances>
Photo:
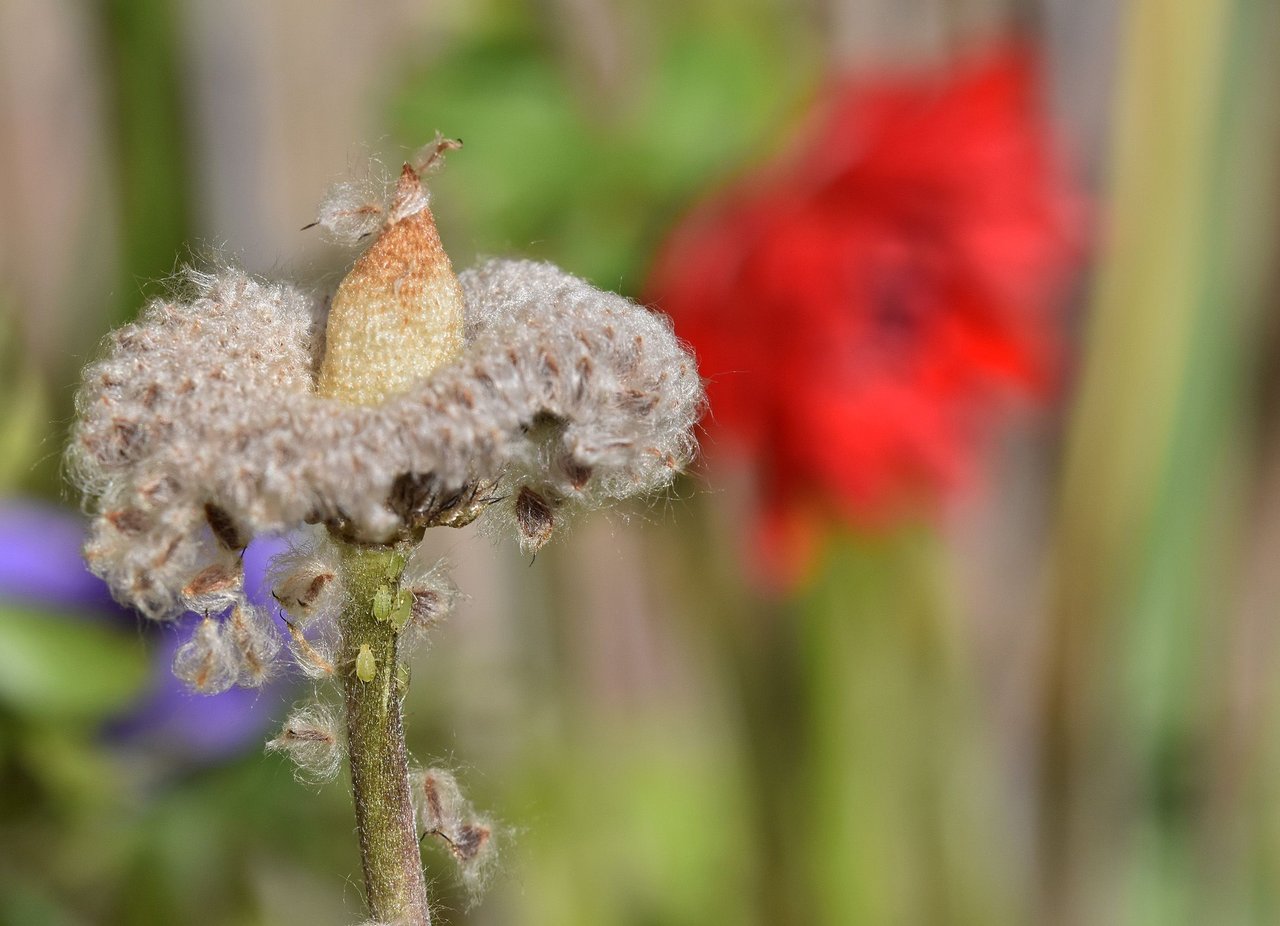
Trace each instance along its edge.
<instances>
[{"instance_id":1,"label":"blurred thick green stem directly below the red flower","mask_svg":"<svg viewBox=\"0 0 1280 926\"><path fill-rule=\"evenodd\" d=\"M911 528L837 537L797 602L808 921L1021 918L941 553Z\"/></svg>"}]
</instances>

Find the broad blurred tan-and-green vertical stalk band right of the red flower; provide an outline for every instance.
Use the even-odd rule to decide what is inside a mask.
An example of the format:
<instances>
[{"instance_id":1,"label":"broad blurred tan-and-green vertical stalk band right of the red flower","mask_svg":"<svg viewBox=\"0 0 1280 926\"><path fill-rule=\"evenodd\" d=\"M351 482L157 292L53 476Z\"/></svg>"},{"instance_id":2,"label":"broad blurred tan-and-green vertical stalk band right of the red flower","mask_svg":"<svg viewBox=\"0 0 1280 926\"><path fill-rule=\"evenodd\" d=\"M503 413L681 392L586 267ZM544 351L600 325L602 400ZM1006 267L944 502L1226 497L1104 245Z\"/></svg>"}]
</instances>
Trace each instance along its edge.
<instances>
[{"instance_id":1,"label":"broad blurred tan-and-green vertical stalk band right of the red flower","mask_svg":"<svg viewBox=\"0 0 1280 926\"><path fill-rule=\"evenodd\" d=\"M1041 756L1046 923L1172 922L1233 446L1222 150L1239 4L1133 0L1068 437Z\"/></svg>"}]
</instances>

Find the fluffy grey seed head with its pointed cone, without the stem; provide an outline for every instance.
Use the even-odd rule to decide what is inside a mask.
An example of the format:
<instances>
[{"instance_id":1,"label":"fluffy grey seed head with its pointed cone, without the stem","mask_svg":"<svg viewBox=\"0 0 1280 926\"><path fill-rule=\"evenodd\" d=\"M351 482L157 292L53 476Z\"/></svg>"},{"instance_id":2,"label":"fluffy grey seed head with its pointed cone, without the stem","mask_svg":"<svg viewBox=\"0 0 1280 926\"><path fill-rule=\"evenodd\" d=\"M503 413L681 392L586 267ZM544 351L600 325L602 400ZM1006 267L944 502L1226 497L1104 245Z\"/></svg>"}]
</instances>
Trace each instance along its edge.
<instances>
[{"instance_id":1,"label":"fluffy grey seed head with its pointed cone, without the stem","mask_svg":"<svg viewBox=\"0 0 1280 926\"><path fill-rule=\"evenodd\" d=\"M502 514L536 549L563 510L689 461L701 382L664 316L549 264L453 277L421 183L448 147L378 211L330 197L323 224L376 215L378 233L328 316L288 283L192 272L108 338L68 462L95 515L86 556L119 599L157 619L229 601L248 539L303 523L392 543ZM291 620L320 576L275 587Z\"/></svg>"}]
</instances>

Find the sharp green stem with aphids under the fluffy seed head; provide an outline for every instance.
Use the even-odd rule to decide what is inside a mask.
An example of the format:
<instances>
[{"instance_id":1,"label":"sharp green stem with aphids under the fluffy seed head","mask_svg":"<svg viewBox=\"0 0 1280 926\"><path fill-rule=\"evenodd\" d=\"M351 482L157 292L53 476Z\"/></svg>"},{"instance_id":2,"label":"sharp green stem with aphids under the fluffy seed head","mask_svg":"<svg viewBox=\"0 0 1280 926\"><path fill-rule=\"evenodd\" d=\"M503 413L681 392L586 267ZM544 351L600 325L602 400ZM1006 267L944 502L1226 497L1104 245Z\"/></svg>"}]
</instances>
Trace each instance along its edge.
<instances>
[{"instance_id":1,"label":"sharp green stem with aphids under the fluffy seed head","mask_svg":"<svg viewBox=\"0 0 1280 926\"><path fill-rule=\"evenodd\" d=\"M349 546L343 558L347 606L342 615L339 666L369 912L375 920L397 926L429 926L431 914L401 720L396 669L399 634L389 621L376 620L372 613L378 588L387 584L394 588L399 581L398 574L388 571L398 573L402 566L397 566L388 547ZM372 678L367 680L367 672L356 671L356 657L365 646L375 661Z\"/></svg>"}]
</instances>

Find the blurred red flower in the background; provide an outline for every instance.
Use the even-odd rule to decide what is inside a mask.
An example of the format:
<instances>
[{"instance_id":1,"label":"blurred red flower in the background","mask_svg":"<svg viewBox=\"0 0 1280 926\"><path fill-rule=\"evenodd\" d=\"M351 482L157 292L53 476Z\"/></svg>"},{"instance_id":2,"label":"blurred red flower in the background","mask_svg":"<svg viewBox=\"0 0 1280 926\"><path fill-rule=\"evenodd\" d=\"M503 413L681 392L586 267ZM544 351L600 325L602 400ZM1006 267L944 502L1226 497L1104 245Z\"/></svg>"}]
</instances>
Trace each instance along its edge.
<instances>
[{"instance_id":1,"label":"blurred red flower in the background","mask_svg":"<svg viewBox=\"0 0 1280 926\"><path fill-rule=\"evenodd\" d=\"M936 502L1009 397L1051 392L1080 200L1036 74L1004 46L833 82L795 150L659 252L646 296L699 353L717 443L758 466L769 565L824 520Z\"/></svg>"}]
</instances>

